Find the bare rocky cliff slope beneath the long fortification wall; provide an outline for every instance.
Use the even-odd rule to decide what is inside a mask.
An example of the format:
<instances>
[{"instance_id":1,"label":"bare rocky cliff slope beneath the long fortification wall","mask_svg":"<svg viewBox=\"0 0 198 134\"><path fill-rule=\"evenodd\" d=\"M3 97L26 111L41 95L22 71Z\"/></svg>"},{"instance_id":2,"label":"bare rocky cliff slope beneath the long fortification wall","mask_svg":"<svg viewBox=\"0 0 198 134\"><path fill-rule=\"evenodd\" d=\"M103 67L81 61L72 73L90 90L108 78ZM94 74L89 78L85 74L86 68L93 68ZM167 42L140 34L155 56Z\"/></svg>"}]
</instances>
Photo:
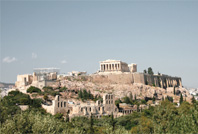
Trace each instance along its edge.
<instances>
[{"instance_id":1,"label":"bare rocky cliff slope beneath the long fortification wall","mask_svg":"<svg viewBox=\"0 0 198 134\"><path fill-rule=\"evenodd\" d=\"M131 93L133 97L136 96L137 99L144 99L145 97L152 98L154 94L157 94L158 99L162 97L171 96L173 98L178 98L179 96L174 95L173 88L159 88L143 84L118 84L118 83L101 83L101 82L91 82L82 79L64 79L60 81L61 87L67 87L70 90L81 90L86 89L90 90L94 95L101 95L103 93L113 93L116 98L122 98L129 96ZM183 94L185 99L190 102L191 95L188 90L185 88L176 88L176 91L179 91Z\"/></svg>"}]
</instances>

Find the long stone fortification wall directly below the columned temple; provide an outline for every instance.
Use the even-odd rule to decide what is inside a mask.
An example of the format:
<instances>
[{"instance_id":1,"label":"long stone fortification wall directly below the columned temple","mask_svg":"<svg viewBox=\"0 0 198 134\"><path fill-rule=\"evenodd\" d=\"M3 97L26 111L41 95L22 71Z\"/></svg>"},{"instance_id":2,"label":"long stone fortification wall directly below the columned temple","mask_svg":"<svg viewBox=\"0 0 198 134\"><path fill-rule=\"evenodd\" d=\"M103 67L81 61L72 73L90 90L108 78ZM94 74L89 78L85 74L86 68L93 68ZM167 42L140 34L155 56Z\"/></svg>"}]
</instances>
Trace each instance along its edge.
<instances>
[{"instance_id":1,"label":"long stone fortification wall directly below the columned temple","mask_svg":"<svg viewBox=\"0 0 198 134\"><path fill-rule=\"evenodd\" d=\"M168 75L149 75L145 73L120 73L106 75L92 75L91 82L96 83L112 83L112 84L133 84L141 83L152 85L161 88L181 87L182 82L180 77L172 77Z\"/></svg>"}]
</instances>

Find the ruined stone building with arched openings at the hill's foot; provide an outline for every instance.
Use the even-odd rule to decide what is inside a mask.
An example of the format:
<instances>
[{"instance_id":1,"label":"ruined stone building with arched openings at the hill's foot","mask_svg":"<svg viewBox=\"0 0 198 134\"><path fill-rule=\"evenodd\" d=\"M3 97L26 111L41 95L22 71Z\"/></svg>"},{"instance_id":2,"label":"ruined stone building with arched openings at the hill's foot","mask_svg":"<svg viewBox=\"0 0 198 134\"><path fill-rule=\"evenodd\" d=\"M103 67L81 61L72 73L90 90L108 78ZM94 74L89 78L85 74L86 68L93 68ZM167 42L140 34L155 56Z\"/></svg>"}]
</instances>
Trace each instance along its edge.
<instances>
[{"instance_id":1,"label":"ruined stone building with arched openings at the hill's foot","mask_svg":"<svg viewBox=\"0 0 198 134\"><path fill-rule=\"evenodd\" d=\"M69 114L70 118L75 116L87 116L91 114L94 117L100 118L104 115L113 114L114 117L119 117L122 113L119 113L118 108L115 105L115 96L113 94L104 94L103 101L98 100L95 102L76 103L62 99L60 96L56 96L51 106L42 105L47 112L55 115L56 113Z\"/></svg>"}]
</instances>

